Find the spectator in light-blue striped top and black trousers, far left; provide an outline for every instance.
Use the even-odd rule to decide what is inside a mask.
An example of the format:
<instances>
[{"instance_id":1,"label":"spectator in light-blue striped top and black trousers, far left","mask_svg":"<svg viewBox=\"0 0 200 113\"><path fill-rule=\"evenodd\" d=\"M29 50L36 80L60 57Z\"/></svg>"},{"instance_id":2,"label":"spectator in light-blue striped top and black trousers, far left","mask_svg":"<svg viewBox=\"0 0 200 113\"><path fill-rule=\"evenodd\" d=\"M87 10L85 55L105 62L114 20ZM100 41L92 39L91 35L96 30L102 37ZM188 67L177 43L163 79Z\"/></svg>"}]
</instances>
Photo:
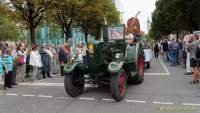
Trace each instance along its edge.
<instances>
[{"instance_id":1,"label":"spectator in light-blue striped top and black trousers, far left","mask_svg":"<svg viewBox=\"0 0 200 113\"><path fill-rule=\"evenodd\" d=\"M7 66L7 71L5 73L5 81L4 81L4 89L7 90L8 88L12 88L12 75L13 75L13 61L14 58L12 56L12 49L7 48L6 53L2 57L3 62Z\"/></svg>"}]
</instances>

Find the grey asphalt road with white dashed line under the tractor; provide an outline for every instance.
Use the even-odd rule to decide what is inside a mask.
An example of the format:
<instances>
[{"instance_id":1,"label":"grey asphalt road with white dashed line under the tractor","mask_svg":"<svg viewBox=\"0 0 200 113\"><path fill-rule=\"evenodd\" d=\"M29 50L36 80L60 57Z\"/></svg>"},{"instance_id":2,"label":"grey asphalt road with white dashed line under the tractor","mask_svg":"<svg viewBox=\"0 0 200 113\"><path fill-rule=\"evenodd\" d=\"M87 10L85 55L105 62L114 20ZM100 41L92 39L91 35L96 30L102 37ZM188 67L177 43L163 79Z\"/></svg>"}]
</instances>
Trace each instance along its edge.
<instances>
[{"instance_id":1,"label":"grey asphalt road with white dashed line under the tractor","mask_svg":"<svg viewBox=\"0 0 200 113\"><path fill-rule=\"evenodd\" d=\"M192 77L184 73L181 66L153 59L144 82L129 85L122 102L113 101L109 89L89 85L71 98L61 77L7 91L0 85L0 113L200 113L200 84L189 84Z\"/></svg>"}]
</instances>

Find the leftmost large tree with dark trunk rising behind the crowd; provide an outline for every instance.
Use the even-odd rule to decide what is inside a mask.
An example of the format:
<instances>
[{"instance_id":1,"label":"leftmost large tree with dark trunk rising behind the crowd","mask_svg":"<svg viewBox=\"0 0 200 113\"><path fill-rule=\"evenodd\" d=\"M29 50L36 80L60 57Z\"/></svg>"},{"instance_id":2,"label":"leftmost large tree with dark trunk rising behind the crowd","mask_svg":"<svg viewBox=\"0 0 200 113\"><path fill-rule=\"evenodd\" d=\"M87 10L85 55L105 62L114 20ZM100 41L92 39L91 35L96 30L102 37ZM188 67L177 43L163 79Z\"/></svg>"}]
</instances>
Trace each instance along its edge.
<instances>
[{"instance_id":1,"label":"leftmost large tree with dark trunk rising behind the crowd","mask_svg":"<svg viewBox=\"0 0 200 113\"><path fill-rule=\"evenodd\" d=\"M35 29L44 17L44 12L52 0L10 0L15 10L21 14L30 31L31 43L37 44Z\"/></svg>"}]
</instances>

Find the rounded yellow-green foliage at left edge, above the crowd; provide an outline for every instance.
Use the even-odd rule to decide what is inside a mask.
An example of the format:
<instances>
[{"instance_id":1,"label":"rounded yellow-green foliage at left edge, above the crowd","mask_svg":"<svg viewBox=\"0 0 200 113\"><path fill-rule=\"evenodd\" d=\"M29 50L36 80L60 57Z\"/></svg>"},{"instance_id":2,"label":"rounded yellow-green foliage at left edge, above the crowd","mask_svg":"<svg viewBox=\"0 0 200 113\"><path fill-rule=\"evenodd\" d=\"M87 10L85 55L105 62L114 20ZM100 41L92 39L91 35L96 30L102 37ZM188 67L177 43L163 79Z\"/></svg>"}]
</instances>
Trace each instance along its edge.
<instances>
[{"instance_id":1,"label":"rounded yellow-green foliage at left edge, above the crowd","mask_svg":"<svg viewBox=\"0 0 200 113\"><path fill-rule=\"evenodd\" d=\"M20 32L16 24L3 15L0 15L0 40L18 40Z\"/></svg>"}]
</instances>

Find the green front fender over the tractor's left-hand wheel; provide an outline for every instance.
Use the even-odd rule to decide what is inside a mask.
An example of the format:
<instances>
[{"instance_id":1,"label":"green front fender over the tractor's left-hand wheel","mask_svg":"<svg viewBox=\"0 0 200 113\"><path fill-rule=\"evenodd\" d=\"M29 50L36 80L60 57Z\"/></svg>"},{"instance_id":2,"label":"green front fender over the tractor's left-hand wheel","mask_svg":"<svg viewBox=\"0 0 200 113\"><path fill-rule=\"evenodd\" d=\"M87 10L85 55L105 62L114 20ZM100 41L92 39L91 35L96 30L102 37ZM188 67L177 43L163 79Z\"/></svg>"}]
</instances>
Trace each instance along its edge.
<instances>
[{"instance_id":1,"label":"green front fender over the tractor's left-hand wheel","mask_svg":"<svg viewBox=\"0 0 200 113\"><path fill-rule=\"evenodd\" d=\"M63 68L63 71L65 74L69 74L73 72L76 68L82 70L83 72L85 72L86 70L86 66L83 63L74 62L74 63L66 64Z\"/></svg>"}]
</instances>

